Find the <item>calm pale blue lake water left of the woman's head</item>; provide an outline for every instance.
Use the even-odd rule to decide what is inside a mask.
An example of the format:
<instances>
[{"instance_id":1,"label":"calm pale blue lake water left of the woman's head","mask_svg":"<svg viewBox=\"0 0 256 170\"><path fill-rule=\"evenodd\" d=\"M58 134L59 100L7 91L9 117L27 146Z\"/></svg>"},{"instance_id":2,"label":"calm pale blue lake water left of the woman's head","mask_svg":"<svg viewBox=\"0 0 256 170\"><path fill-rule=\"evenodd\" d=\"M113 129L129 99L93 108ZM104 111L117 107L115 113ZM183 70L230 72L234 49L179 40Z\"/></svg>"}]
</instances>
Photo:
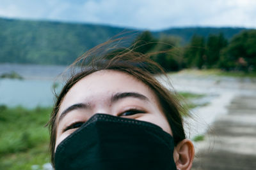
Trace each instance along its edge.
<instances>
[{"instance_id":1,"label":"calm pale blue lake water left of the woman's head","mask_svg":"<svg viewBox=\"0 0 256 170\"><path fill-rule=\"evenodd\" d=\"M65 71L65 66L39 66L29 64L0 64L0 75L15 71L24 80L0 79L0 104L6 106L52 106L54 93L52 85L61 80L56 78Z\"/></svg>"}]
</instances>

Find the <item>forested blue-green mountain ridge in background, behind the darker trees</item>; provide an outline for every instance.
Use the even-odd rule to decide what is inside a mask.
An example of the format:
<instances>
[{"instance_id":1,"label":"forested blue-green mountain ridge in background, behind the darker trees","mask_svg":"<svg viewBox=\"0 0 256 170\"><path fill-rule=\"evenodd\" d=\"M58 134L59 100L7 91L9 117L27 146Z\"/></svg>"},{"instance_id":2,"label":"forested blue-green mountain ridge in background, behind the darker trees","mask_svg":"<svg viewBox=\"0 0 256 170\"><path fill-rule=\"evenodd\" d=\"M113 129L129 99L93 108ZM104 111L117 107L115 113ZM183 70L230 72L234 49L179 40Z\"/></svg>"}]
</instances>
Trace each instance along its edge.
<instances>
[{"instance_id":1,"label":"forested blue-green mountain ridge in background, behind the darker trees","mask_svg":"<svg viewBox=\"0 0 256 170\"><path fill-rule=\"evenodd\" d=\"M207 37L223 32L230 39L244 28L191 27L155 31L156 37L180 36L186 45L193 34ZM122 33L128 44L138 33L134 29L96 24L0 18L0 62L31 64L70 64L93 46Z\"/></svg>"}]
</instances>

